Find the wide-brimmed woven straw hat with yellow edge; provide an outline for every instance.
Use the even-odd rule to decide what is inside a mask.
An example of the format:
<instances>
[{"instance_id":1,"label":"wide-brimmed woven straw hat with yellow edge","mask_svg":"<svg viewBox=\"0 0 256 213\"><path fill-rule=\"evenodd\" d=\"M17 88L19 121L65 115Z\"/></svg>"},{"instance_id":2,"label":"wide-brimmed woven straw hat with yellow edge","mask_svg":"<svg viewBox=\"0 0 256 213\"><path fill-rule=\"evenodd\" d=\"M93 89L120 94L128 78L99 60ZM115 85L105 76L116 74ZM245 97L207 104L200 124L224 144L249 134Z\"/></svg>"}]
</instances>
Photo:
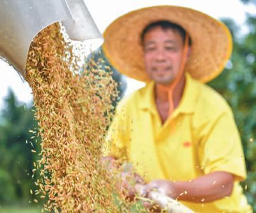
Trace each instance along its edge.
<instances>
[{"instance_id":1,"label":"wide-brimmed woven straw hat with yellow edge","mask_svg":"<svg viewBox=\"0 0 256 213\"><path fill-rule=\"evenodd\" d=\"M116 70L128 77L148 82L140 34L157 20L170 20L182 26L192 40L186 64L193 78L209 82L221 73L232 52L227 27L200 11L180 6L154 6L131 11L117 18L104 32L103 51Z\"/></svg>"}]
</instances>

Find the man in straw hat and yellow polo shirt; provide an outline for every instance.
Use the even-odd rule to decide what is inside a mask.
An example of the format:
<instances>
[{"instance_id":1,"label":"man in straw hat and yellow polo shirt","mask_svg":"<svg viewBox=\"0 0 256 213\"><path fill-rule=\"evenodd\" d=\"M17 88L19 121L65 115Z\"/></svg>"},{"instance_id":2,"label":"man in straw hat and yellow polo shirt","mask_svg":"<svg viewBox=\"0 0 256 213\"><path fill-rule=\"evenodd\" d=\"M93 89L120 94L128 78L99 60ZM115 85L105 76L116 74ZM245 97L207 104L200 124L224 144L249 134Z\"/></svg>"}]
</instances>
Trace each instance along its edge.
<instances>
[{"instance_id":1,"label":"man in straw hat and yellow polo shirt","mask_svg":"<svg viewBox=\"0 0 256 213\"><path fill-rule=\"evenodd\" d=\"M246 169L232 112L202 84L230 57L227 28L199 11L156 6L118 18L104 37L113 66L147 83L118 106L108 155L125 154L146 192L195 212L252 212L239 185Z\"/></svg>"}]
</instances>

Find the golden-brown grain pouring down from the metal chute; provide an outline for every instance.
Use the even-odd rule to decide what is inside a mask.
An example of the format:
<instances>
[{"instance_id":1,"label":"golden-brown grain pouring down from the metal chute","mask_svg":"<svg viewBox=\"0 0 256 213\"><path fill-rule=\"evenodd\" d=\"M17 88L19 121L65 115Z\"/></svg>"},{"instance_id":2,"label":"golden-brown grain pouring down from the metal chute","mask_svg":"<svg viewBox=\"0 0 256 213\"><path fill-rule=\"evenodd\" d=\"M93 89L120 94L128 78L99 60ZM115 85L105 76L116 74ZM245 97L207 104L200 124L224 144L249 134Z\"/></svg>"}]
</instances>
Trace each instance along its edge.
<instances>
[{"instance_id":1,"label":"golden-brown grain pouring down from the metal chute","mask_svg":"<svg viewBox=\"0 0 256 213\"><path fill-rule=\"evenodd\" d=\"M126 205L120 210L113 202L117 193L125 203L99 163L116 83L106 71L92 68L79 75L77 70L59 24L31 43L26 80L42 138L36 194L47 200L43 210L49 212L127 212Z\"/></svg>"}]
</instances>

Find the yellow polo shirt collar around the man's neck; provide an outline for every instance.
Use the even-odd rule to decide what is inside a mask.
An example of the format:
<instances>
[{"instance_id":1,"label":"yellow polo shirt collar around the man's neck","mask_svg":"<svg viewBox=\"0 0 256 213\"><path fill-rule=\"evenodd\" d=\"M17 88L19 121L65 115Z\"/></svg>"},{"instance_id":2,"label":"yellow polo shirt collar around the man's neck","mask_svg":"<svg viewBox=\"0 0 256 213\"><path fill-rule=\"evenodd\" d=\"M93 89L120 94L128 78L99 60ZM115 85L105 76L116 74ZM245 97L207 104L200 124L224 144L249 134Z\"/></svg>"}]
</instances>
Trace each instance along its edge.
<instances>
[{"instance_id":1,"label":"yellow polo shirt collar around the man's neck","mask_svg":"<svg viewBox=\"0 0 256 213\"><path fill-rule=\"evenodd\" d=\"M198 82L194 80L189 73L185 74L186 84L179 106L175 108L173 116L179 113L193 113L195 112L196 96L198 94ZM149 82L142 92L140 99L140 108L142 110L149 110L150 112L157 112L156 103L154 101L154 82Z\"/></svg>"}]
</instances>

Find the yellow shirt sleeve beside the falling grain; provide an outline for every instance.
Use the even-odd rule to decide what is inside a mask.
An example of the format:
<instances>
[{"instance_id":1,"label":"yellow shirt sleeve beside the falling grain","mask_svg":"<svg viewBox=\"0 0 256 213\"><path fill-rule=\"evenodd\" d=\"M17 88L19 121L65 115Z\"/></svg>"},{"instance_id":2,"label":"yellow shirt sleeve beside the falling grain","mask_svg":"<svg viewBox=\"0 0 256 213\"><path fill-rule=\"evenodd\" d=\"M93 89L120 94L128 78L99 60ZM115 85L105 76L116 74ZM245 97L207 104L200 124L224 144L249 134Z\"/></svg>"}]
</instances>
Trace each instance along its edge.
<instances>
[{"instance_id":1,"label":"yellow shirt sleeve beside the falling grain","mask_svg":"<svg viewBox=\"0 0 256 213\"><path fill-rule=\"evenodd\" d=\"M125 111L125 103L121 101L116 108L116 114L108 129L106 142L103 147L103 156L111 156L118 159L127 156L129 124Z\"/></svg>"}]
</instances>

